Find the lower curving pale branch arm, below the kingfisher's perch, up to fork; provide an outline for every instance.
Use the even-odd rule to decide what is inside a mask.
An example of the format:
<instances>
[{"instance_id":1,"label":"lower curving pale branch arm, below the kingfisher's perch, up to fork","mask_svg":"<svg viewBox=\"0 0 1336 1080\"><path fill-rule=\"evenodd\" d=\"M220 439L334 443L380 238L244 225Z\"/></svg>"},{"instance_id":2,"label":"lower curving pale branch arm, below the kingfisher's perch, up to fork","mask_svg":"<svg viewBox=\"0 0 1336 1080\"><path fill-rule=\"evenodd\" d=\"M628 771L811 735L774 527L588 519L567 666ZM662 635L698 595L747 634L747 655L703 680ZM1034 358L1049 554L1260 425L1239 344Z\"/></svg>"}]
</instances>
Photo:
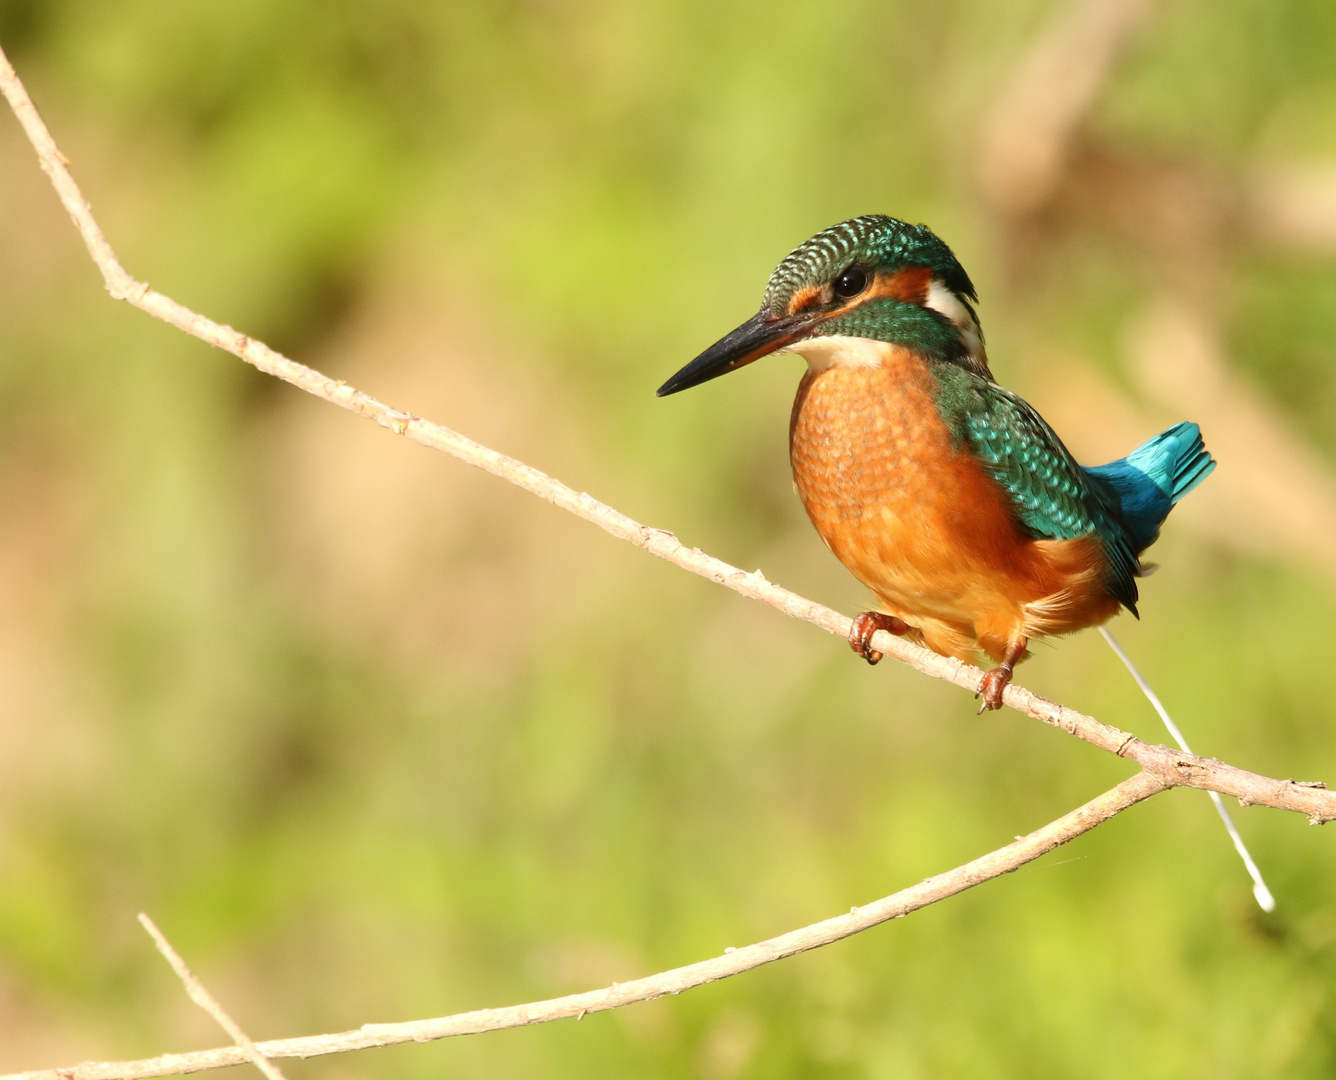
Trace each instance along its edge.
<instances>
[{"instance_id":1,"label":"lower curving pale branch arm, below the kingfisher's perch, up to fork","mask_svg":"<svg viewBox=\"0 0 1336 1080\"><path fill-rule=\"evenodd\" d=\"M568 994L548 1001L530 1001L525 1005L508 1005L500 1009L476 1009L434 1020L411 1020L403 1024L366 1024L354 1031L334 1035L275 1039L257 1044L257 1049L266 1057L315 1057L322 1053L390 1047L397 1043L430 1043L454 1035L522 1028L529 1024L544 1024L549 1020L562 1020L572 1016L582 1017L585 1013L616 1009L636 1001L651 1001L664 994L681 993L705 982L717 982L720 978L749 972L763 964L772 964L788 956L830 945L832 941L851 937L887 920L900 918L910 912L963 893L966 889L973 889L975 885L991 881L1001 874L1011 873L1054 847L1090 831L1129 806L1173 786L1172 781L1152 773L1137 773L1117 787L1090 799L1085 806L1079 806L1030 833L1030 835L1021 837L1006 847L990 851L973 862L930 877L918 885L902 889L862 908L854 908L848 914L827 918L823 922L791 930L755 945L725 949L721 956L688 964L684 968L673 968L631 982L613 982L601 990ZM168 1053L142 1061L90 1061L60 1069L39 1069L0 1076L0 1080L136 1080L146 1076L170 1076L180 1072L239 1065L244 1064L246 1060L246 1052L240 1047L219 1047L194 1053Z\"/></svg>"}]
</instances>

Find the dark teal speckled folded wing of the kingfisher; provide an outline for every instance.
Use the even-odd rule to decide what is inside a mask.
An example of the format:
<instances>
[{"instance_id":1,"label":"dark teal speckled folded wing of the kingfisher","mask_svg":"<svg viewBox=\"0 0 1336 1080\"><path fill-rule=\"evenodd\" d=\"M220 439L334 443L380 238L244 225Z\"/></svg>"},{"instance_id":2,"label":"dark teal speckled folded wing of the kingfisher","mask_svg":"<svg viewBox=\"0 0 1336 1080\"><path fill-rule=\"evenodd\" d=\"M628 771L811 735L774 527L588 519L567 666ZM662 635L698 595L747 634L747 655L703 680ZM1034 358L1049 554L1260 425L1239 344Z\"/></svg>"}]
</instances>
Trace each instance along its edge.
<instances>
[{"instance_id":1,"label":"dark teal speckled folded wing of the kingfisher","mask_svg":"<svg viewBox=\"0 0 1336 1080\"><path fill-rule=\"evenodd\" d=\"M1026 532L1051 540L1098 536L1109 559L1109 593L1136 614L1141 567L1109 484L1081 468L1043 417L1010 390L978 380L957 404L957 430L1007 493Z\"/></svg>"}]
</instances>

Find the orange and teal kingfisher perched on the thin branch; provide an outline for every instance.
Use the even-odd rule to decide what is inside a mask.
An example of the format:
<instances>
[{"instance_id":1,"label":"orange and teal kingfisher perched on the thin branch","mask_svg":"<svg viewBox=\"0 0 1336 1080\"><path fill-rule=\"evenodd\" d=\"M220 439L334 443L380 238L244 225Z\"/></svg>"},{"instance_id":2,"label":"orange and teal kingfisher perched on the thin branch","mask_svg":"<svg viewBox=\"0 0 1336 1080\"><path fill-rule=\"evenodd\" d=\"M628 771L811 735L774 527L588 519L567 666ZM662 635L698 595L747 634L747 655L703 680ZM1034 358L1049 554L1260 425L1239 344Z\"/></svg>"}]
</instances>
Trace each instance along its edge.
<instances>
[{"instance_id":1,"label":"orange and teal kingfisher perched on the thin branch","mask_svg":"<svg viewBox=\"0 0 1336 1080\"><path fill-rule=\"evenodd\" d=\"M834 225L775 269L760 311L659 388L675 394L771 353L807 372L788 425L794 487L826 547L879 610L854 620L997 666L999 708L1039 638L1137 614L1141 555L1214 469L1196 424L1108 465L1077 464L989 370L978 295L927 226L880 214ZM1140 616L1138 616L1140 618Z\"/></svg>"}]
</instances>

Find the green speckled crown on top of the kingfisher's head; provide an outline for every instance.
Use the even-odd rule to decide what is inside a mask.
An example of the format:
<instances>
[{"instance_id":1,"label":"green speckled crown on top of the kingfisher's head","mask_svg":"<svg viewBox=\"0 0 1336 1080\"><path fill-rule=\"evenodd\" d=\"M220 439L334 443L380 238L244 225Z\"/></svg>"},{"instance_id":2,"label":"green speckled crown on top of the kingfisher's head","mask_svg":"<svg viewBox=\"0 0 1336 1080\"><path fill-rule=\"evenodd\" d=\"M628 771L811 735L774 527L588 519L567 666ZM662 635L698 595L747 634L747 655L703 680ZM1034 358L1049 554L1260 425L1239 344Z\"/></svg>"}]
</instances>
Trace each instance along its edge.
<instances>
[{"instance_id":1,"label":"green speckled crown on top of the kingfisher's head","mask_svg":"<svg viewBox=\"0 0 1336 1080\"><path fill-rule=\"evenodd\" d=\"M799 289L830 281L854 263L868 270L927 266L962 299L978 298L965 267L926 225L864 214L832 225L798 245L770 275L762 306L780 314Z\"/></svg>"}]
</instances>

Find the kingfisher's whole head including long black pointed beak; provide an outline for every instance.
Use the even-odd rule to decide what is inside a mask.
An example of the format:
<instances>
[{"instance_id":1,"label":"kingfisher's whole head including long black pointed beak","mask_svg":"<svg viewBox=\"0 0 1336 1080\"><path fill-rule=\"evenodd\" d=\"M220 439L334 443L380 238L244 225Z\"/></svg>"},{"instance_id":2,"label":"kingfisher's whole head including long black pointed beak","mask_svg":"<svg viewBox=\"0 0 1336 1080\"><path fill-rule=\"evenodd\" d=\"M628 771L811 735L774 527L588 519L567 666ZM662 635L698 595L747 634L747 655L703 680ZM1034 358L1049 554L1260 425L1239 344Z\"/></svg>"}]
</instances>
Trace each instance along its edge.
<instances>
[{"instance_id":1,"label":"kingfisher's whole head including long black pointed beak","mask_svg":"<svg viewBox=\"0 0 1336 1080\"><path fill-rule=\"evenodd\" d=\"M659 397L778 352L814 368L883 341L990 377L969 274L927 226L867 214L818 233L775 267L760 311L659 388Z\"/></svg>"}]
</instances>

